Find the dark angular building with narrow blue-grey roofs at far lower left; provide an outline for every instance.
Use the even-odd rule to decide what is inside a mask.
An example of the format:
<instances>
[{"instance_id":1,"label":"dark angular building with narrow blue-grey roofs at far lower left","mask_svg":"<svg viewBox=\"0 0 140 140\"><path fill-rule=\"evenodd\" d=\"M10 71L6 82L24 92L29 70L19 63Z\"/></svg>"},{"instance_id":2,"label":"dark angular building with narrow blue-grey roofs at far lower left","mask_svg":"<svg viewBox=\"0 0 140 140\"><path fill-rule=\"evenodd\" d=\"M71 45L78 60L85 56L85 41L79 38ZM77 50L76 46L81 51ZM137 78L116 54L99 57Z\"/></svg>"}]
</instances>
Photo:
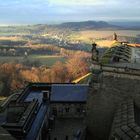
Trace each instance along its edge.
<instances>
[{"instance_id":1,"label":"dark angular building with narrow blue-grey roofs at far lower left","mask_svg":"<svg viewBox=\"0 0 140 140\"><path fill-rule=\"evenodd\" d=\"M44 140L48 136L48 84L30 84L1 105L0 126L16 140Z\"/></svg>"}]
</instances>

